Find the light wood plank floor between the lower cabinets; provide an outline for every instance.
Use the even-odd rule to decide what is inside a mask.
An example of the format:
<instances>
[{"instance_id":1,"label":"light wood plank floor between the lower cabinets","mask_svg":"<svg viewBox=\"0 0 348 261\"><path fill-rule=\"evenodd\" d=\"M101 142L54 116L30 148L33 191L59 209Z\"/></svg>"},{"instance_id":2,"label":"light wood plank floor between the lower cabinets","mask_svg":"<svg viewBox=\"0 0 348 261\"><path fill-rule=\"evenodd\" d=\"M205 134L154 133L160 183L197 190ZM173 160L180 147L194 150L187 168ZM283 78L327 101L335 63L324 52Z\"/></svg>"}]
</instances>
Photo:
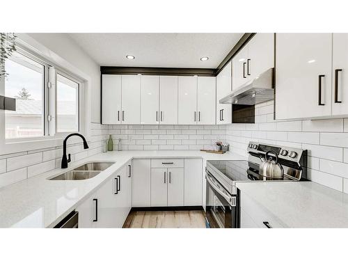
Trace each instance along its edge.
<instances>
[{"instance_id":1,"label":"light wood plank floor between the lower cabinets","mask_svg":"<svg viewBox=\"0 0 348 261\"><path fill-rule=\"evenodd\" d=\"M131 212L123 228L205 228L202 210Z\"/></svg>"}]
</instances>

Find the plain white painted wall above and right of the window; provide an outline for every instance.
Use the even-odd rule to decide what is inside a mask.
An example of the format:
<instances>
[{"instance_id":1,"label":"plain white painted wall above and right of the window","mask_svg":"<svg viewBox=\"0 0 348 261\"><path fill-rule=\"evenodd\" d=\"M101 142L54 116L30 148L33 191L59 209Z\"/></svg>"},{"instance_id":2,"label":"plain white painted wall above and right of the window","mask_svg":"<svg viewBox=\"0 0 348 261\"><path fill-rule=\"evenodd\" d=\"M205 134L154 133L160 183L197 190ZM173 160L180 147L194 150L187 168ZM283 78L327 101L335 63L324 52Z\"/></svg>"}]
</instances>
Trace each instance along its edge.
<instances>
[{"instance_id":1,"label":"plain white painted wall above and right of the window","mask_svg":"<svg viewBox=\"0 0 348 261\"><path fill-rule=\"evenodd\" d=\"M91 122L100 122L100 65L95 63L67 33L27 33L52 52L79 68L91 79Z\"/></svg>"}]
</instances>

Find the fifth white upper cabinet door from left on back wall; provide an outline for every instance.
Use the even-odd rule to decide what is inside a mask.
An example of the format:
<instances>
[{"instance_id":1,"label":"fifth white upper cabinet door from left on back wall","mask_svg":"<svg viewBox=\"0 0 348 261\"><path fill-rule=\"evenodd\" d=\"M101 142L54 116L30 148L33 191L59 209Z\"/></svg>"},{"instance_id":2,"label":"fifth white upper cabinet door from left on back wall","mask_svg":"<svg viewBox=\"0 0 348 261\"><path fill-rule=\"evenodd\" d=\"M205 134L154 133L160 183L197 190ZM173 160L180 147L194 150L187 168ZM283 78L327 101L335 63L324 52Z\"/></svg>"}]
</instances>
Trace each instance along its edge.
<instances>
[{"instance_id":1,"label":"fifth white upper cabinet door from left on back wall","mask_svg":"<svg viewBox=\"0 0 348 261\"><path fill-rule=\"evenodd\" d=\"M179 77L178 81L178 123L196 125L197 123L197 78Z\"/></svg>"}]
</instances>

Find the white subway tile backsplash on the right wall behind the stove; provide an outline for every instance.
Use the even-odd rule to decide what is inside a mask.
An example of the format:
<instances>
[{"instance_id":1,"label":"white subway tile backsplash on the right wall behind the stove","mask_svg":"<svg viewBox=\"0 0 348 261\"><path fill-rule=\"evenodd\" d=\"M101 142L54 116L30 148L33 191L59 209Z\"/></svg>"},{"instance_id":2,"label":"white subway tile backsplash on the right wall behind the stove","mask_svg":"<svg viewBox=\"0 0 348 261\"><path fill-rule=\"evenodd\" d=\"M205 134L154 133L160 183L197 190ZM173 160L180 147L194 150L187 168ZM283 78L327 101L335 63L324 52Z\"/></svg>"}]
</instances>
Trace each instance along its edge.
<instances>
[{"instance_id":1,"label":"white subway tile backsplash on the right wall behind the stove","mask_svg":"<svg viewBox=\"0 0 348 261\"><path fill-rule=\"evenodd\" d=\"M249 141L308 150L308 177L348 193L348 118L274 120L274 103L255 106L255 124L226 126L232 151L246 155Z\"/></svg>"}]
</instances>

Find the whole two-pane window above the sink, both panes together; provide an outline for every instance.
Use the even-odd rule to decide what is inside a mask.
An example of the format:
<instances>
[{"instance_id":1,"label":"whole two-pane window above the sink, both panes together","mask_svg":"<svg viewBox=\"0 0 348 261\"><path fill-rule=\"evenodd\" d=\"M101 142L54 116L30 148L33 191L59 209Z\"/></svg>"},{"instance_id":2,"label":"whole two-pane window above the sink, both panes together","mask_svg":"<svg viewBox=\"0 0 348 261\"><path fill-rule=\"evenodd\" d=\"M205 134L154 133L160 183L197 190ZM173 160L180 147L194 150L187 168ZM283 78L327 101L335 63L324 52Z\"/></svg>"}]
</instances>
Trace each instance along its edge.
<instances>
[{"instance_id":1,"label":"whole two-pane window above the sink, both panes together","mask_svg":"<svg viewBox=\"0 0 348 261\"><path fill-rule=\"evenodd\" d=\"M16 99L16 110L5 111L1 126L9 143L81 131L80 80L20 48L6 60L5 68L8 76L1 90Z\"/></svg>"}]
</instances>

